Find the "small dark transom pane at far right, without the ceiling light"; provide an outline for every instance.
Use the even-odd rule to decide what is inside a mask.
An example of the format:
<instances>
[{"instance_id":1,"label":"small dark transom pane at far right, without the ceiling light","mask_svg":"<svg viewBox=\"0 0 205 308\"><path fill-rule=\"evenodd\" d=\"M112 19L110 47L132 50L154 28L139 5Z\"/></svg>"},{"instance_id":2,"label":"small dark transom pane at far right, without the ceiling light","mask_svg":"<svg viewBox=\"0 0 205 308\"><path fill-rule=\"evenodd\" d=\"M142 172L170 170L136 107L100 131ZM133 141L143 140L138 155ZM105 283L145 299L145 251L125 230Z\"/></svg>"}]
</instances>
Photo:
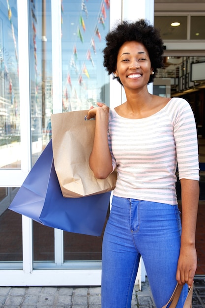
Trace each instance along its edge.
<instances>
[{"instance_id":1,"label":"small dark transom pane at far right, without the ceiling light","mask_svg":"<svg viewBox=\"0 0 205 308\"><path fill-rule=\"evenodd\" d=\"M205 16L191 16L190 39L205 39Z\"/></svg>"}]
</instances>

